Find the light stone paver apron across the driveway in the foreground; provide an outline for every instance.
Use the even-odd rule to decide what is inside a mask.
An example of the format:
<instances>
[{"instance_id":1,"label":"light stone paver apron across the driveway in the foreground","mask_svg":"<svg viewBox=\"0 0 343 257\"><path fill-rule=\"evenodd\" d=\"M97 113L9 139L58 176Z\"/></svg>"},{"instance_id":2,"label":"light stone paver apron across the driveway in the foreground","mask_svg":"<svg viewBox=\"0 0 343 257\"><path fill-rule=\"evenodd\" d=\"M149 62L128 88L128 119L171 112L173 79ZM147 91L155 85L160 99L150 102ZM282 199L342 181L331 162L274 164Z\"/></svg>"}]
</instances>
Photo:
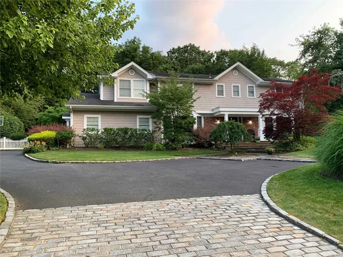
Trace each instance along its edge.
<instances>
[{"instance_id":1,"label":"light stone paver apron across the driveway in the foreground","mask_svg":"<svg viewBox=\"0 0 343 257\"><path fill-rule=\"evenodd\" d=\"M325 257L337 247L280 218L260 195L18 211L1 257Z\"/></svg>"}]
</instances>

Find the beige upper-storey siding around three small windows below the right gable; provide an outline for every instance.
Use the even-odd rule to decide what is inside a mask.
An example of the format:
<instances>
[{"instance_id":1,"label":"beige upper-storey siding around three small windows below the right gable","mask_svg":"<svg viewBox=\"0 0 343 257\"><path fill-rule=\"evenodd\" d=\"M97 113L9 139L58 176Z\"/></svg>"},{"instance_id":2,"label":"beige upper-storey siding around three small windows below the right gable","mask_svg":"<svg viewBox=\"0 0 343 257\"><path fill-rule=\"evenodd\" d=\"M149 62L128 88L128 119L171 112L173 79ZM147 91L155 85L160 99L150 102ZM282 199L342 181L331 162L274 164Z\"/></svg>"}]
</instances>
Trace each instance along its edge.
<instances>
[{"instance_id":1,"label":"beige upper-storey siding around three small windows below the right gable","mask_svg":"<svg viewBox=\"0 0 343 257\"><path fill-rule=\"evenodd\" d=\"M259 95L264 93L269 87L255 87L256 98L247 98L246 85L255 85L255 82L243 74L240 70L238 75L234 76L233 71L230 70L223 75L217 84L225 84L225 97L216 97L216 84L203 85L195 84L197 90L195 96L200 97L194 103L195 111L211 111L216 107L250 107L258 108ZM241 97L232 97L232 84L241 85Z\"/></svg>"}]
</instances>

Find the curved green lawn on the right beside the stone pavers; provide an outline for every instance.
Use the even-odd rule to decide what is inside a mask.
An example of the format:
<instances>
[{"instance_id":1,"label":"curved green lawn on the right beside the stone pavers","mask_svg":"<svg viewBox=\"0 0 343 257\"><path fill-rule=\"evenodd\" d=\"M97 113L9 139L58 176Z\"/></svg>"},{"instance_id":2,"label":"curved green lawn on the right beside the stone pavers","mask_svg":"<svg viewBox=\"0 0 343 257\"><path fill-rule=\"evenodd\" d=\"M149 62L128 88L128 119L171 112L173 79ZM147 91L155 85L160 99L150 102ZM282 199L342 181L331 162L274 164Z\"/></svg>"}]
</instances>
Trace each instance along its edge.
<instances>
[{"instance_id":1,"label":"curved green lawn on the right beside the stone pavers","mask_svg":"<svg viewBox=\"0 0 343 257\"><path fill-rule=\"evenodd\" d=\"M283 172L267 185L281 209L343 241L343 182L319 174L322 164Z\"/></svg>"}]
</instances>

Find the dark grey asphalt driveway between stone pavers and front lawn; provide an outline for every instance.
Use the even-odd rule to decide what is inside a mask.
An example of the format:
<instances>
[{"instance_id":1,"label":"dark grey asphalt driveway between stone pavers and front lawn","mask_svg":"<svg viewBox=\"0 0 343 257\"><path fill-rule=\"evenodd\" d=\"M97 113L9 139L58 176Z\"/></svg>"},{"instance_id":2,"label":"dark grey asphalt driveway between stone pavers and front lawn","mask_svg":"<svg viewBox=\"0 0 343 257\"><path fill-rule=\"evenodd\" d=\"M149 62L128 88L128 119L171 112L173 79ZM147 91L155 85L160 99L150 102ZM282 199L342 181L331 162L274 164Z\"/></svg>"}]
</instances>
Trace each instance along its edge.
<instances>
[{"instance_id":1,"label":"dark grey asphalt driveway between stone pavers and front lawn","mask_svg":"<svg viewBox=\"0 0 343 257\"><path fill-rule=\"evenodd\" d=\"M120 164L44 164L20 151L0 153L0 187L18 210L259 194L272 174L304 163L172 160Z\"/></svg>"}]
</instances>

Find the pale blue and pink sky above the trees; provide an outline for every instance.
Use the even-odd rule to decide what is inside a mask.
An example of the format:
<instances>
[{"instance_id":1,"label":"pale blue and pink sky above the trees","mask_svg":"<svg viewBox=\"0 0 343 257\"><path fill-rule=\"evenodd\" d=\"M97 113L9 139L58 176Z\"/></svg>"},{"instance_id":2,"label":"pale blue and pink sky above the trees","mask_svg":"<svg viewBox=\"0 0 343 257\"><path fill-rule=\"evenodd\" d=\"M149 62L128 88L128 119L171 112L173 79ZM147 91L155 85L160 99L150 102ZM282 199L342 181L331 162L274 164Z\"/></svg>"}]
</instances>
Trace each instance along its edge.
<instances>
[{"instance_id":1,"label":"pale blue and pink sky above the trees","mask_svg":"<svg viewBox=\"0 0 343 257\"><path fill-rule=\"evenodd\" d=\"M153 50L194 43L206 50L250 47L256 43L269 57L292 61L298 48L290 44L314 26L340 29L343 0L224 1L130 0L140 20L120 43L134 36Z\"/></svg>"}]
</instances>

